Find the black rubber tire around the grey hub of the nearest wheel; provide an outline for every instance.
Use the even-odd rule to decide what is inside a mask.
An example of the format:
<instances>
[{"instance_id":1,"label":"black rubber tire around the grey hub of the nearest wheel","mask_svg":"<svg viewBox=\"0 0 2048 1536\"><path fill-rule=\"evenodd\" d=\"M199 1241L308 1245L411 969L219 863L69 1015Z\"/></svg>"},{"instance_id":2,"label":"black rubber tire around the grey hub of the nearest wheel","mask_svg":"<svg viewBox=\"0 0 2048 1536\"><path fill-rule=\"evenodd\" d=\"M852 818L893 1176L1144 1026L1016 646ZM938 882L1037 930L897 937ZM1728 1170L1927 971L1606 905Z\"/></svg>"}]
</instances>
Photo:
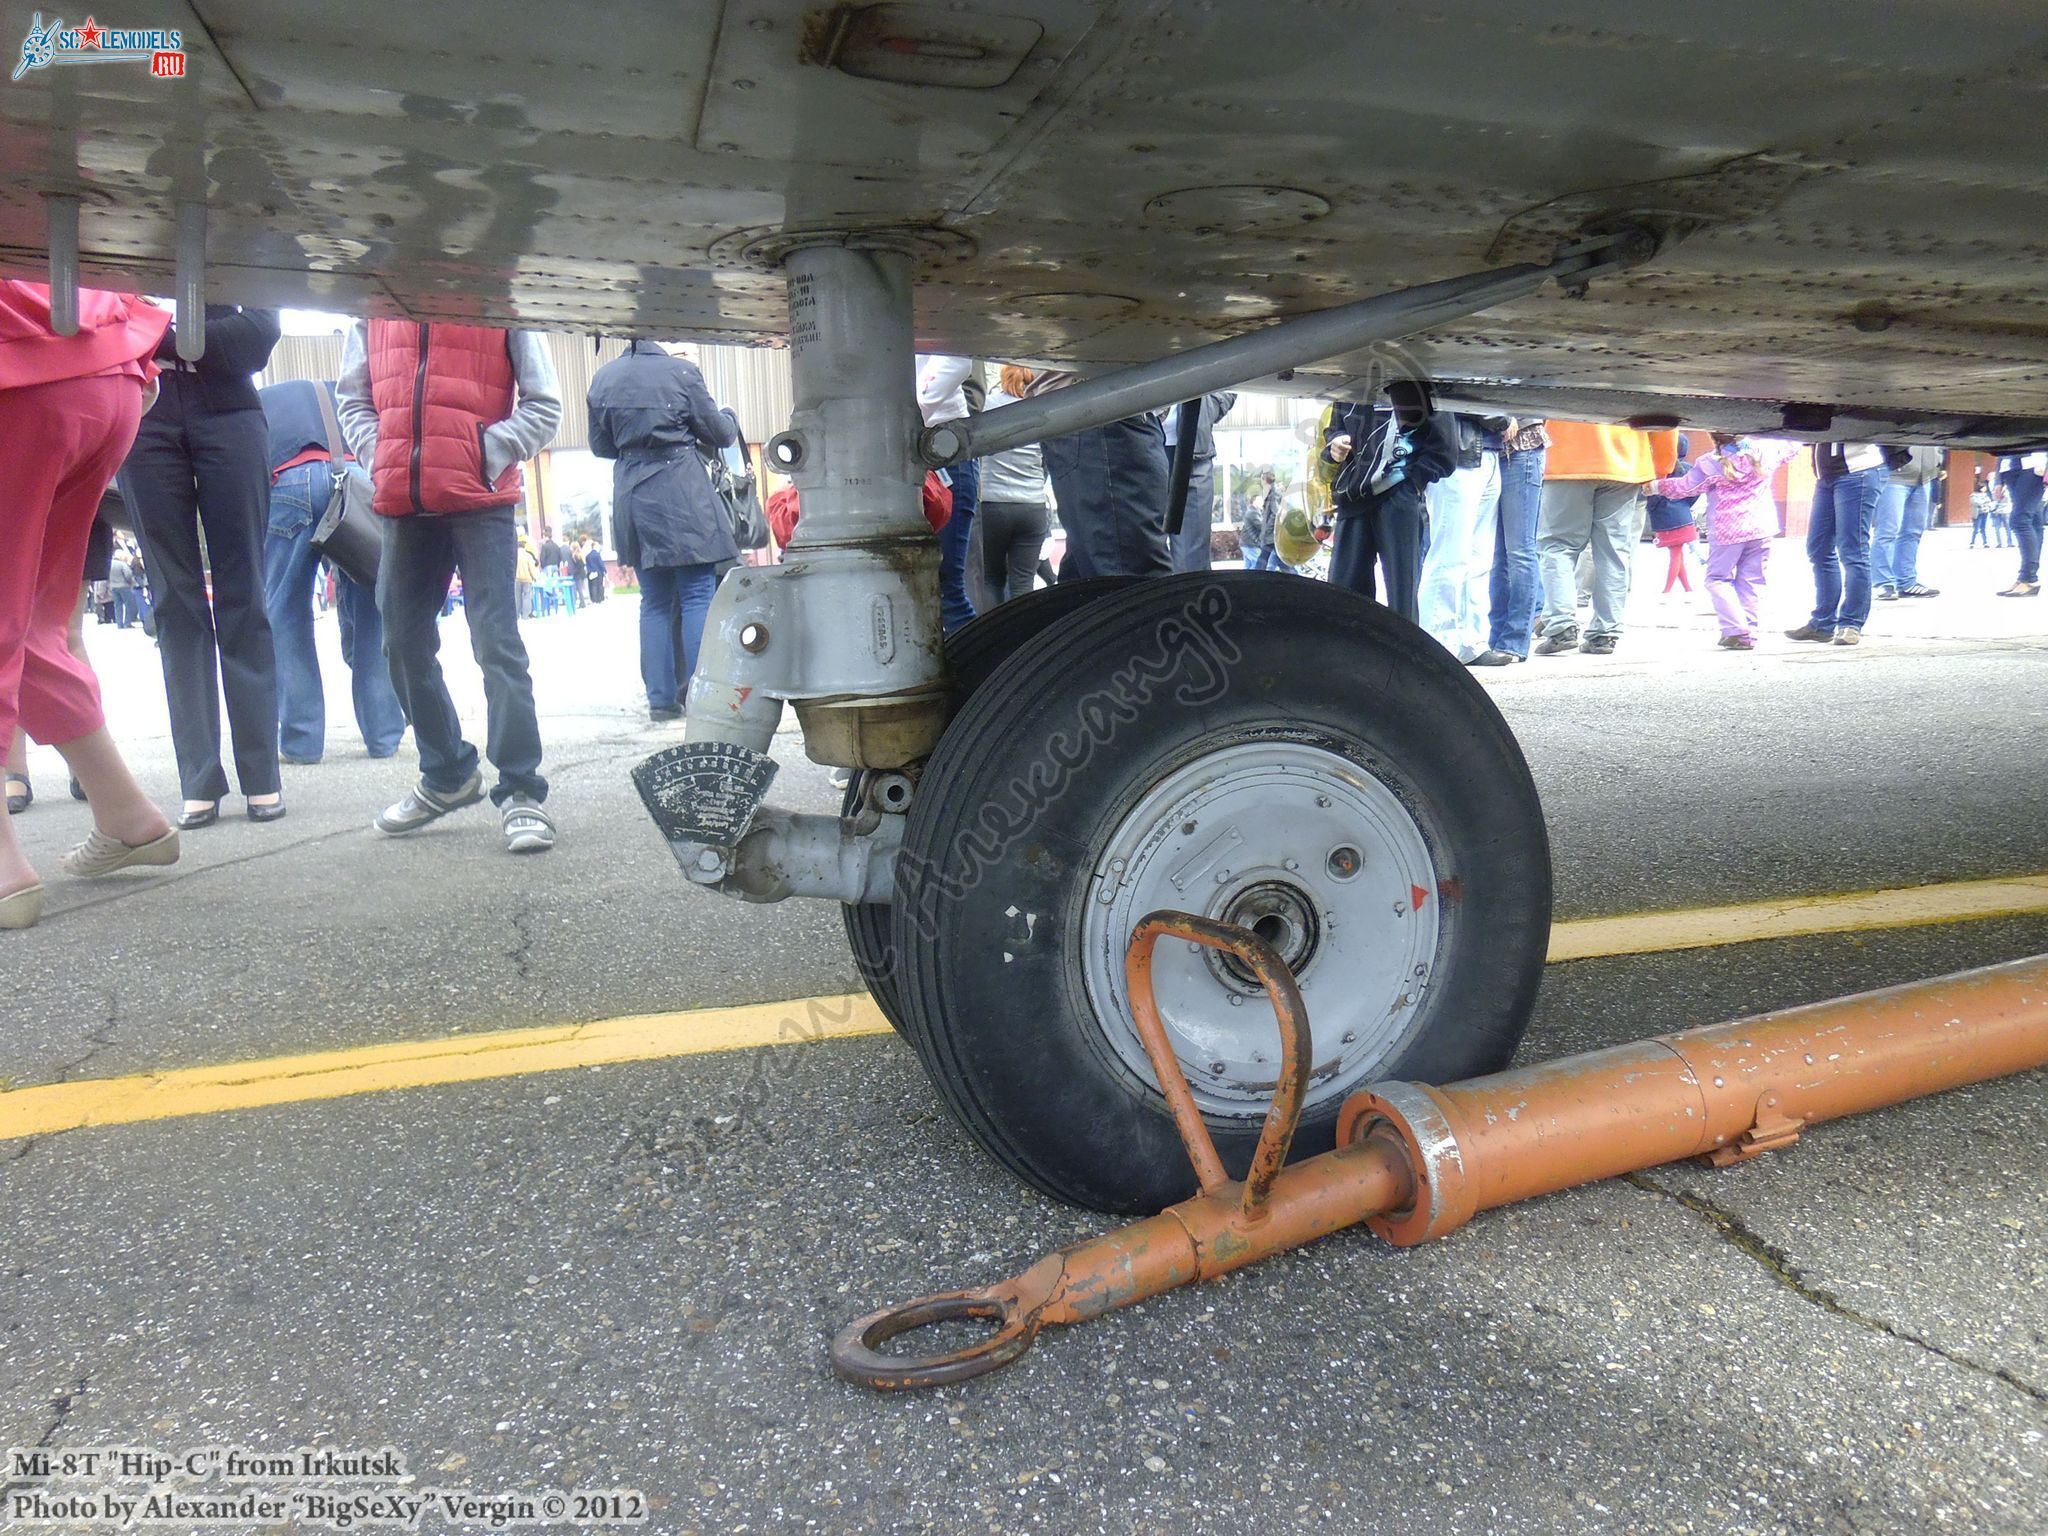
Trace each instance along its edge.
<instances>
[{"instance_id":1,"label":"black rubber tire around the grey hub of the nearest wheel","mask_svg":"<svg viewBox=\"0 0 2048 1536\"><path fill-rule=\"evenodd\" d=\"M1098 711L1116 721L1114 735L1092 754L1065 752L1079 766L1034 782L1034 770L1055 762L1055 735L1067 748L1077 739L1083 707L1135 698L1116 694L1118 670L1128 690L1133 657L1163 655L1167 627L1204 612L1192 604L1210 614L1221 604L1225 614L1208 659L1190 647L1124 717ZM1225 680L1217 692L1198 686L1210 670ZM1194 692L1176 698L1176 688ZM1108 922L1085 909L1110 836L1149 791L1188 772L1200 778L1208 770L1190 766L1223 762L1227 750L1321 754L1343 774L1364 770L1374 786L1360 793L1397 805L1419 838L1413 846L1427 850L1434 940L1409 940L1432 944L1427 981L1401 993L1405 1022L1399 1008L1384 1012L1399 1038L1352 1063L1348 1071L1364 1075L1346 1077L1343 1094L1391 1077L1450 1081L1499 1069L1528 1024L1550 928L1550 852L1534 780L1485 690L1423 631L1329 584L1262 571L1147 582L1026 641L967 700L911 805L905 887L891 907L905 961L901 1010L934 1083L993 1157L1061 1200L1145 1212L1194 1192L1151 1073L1118 1057L1096 1018L1081 932ZM1290 780L1286 793L1303 782L1317 780ZM1036 799L1014 797L1020 786ZM1096 887L1098 899L1108 889ZM1417 918L1421 909L1417 901ZM1343 950L1337 930L1327 932L1327 952L1346 956L1327 963L1327 985L1343 987L1348 956L1378 936L1364 932ZM1225 993L1219 983L1217 999ZM1223 1018L1237 1028L1247 1016ZM1352 1047L1364 1049L1376 1044ZM1311 1104L1296 1155L1329 1149L1339 1104ZM1233 1171L1257 1141L1255 1114L1208 1116Z\"/></svg>"}]
</instances>

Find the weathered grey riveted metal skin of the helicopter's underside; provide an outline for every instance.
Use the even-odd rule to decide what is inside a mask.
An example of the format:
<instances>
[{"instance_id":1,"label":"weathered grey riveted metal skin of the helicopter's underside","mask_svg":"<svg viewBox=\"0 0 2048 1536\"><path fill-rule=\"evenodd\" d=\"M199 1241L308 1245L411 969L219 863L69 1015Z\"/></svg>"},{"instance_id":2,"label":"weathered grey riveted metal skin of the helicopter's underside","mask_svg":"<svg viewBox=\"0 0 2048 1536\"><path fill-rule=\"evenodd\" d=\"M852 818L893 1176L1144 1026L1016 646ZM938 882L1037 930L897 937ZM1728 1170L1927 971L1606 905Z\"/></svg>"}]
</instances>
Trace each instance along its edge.
<instances>
[{"instance_id":1,"label":"weathered grey riveted metal skin of the helicopter's underside","mask_svg":"<svg viewBox=\"0 0 2048 1536\"><path fill-rule=\"evenodd\" d=\"M33 10L0 6L10 61ZM203 199L219 299L764 338L774 236L909 227L922 348L1130 362L1653 211L1698 229L1585 301L1448 324L1423 367L1587 416L2048 434L2048 10L2019 0L133 0L109 25L182 29L188 78L0 92L6 270L41 272L45 195L78 193L88 279L168 291L174 205Z\"/></svg>"}]
</instances>

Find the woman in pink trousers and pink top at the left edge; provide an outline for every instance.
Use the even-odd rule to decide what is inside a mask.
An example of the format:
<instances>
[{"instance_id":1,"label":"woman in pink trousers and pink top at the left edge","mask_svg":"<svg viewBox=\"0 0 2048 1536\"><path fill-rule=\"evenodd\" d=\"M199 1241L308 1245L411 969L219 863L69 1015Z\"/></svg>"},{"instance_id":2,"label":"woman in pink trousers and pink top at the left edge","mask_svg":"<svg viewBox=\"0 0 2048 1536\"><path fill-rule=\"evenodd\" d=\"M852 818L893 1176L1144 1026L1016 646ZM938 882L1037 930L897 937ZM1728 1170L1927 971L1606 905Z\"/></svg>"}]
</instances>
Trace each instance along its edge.
<instances>
[{"instance_id":1,"label":"woman in pink trousers and pink top at the left edge","mask_svg":"<svg viewBox=\"0 0 2048 1536\"><path fill-rule=\"evenodd\" d=\"M63 856L78 879L178 858L176 829L106 733L98 678L66 643L86 535L156 389L168 324L141 299L82 291L78 332L59 336L47 287L0 281L0 741L20 725L84 788L92 831ZM41 915L43 883L0 817L0 930Z\"/></svg>"}]
</instances>

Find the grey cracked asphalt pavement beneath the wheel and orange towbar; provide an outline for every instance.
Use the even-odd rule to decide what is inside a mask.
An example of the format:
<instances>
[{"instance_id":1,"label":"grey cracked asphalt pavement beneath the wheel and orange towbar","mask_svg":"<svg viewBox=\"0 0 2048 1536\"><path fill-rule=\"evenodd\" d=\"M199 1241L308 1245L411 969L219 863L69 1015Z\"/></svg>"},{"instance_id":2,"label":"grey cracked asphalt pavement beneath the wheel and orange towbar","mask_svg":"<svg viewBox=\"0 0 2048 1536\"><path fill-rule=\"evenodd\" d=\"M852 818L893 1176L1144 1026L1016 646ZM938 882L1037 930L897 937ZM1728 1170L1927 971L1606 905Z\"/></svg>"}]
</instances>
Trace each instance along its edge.
<instances>
[{"instance_id":1,"label":"grey cracked asphalt pavement beneath the wheel and orange towbar","mask_svg":"<svg viewBox=\"0 0 2048 1536\"><path fill-rule=\"evenodd\" d=\"M532 641L557 852L481 813L377 840L410 766L336 709L287 821L53 883L4 936L0 1077L852 989L838 913L700 897L645 823L625 770L674 737L635 713L631 616ZM152 657L88 639L172 795ZM2048 643L1874 641L1532 664L1497 698L1587 915L2048 868L2044 684ZM782 756L778 797L829 807ZM84 815L37 776L53 866ZM1579 961L1522 1059L2042 950L2013 918ZM979 1155L887 1036L0 1143L0 1448L389 1444L420 1483L643 1489L662 1532L2017 1536L2048 1528L2042 1090L1421 1249L1343 1233L907 1397L838 1382L831 1331L1104 1223Z\"/></svg>"}]
</instances>

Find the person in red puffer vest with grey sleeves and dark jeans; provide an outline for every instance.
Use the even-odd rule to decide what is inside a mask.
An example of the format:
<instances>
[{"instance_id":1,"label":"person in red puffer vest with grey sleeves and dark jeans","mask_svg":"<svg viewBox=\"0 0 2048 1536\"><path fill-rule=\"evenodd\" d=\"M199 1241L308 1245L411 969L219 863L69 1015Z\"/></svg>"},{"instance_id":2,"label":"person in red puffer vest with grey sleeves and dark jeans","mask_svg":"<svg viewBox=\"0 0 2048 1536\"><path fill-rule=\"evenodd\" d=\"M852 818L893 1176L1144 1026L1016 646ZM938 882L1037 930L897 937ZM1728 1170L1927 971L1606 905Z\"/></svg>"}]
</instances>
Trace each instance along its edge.
<instances>
[{"instance_id":1,"label":"person in red puffer vest with grey sleeves and dark jeans","mask_svg":"<svg viewBox=\"0 0 2048 1536\"><path fill-rule=\"evenodd\" d=\"M518 635L512 514L524 489L520 463L561 426L547 342L530 330L358 319L336 403L342 436L371 469L371 508L385 518L377 610L391 686L420 743L420 782L377 815L377 829L397 838L483 799L477 750L463 739L438 659L440 606L461 571L506 848L553 848L555 823L541 807L541 721Z\"/></svg>"}]
</instances>

